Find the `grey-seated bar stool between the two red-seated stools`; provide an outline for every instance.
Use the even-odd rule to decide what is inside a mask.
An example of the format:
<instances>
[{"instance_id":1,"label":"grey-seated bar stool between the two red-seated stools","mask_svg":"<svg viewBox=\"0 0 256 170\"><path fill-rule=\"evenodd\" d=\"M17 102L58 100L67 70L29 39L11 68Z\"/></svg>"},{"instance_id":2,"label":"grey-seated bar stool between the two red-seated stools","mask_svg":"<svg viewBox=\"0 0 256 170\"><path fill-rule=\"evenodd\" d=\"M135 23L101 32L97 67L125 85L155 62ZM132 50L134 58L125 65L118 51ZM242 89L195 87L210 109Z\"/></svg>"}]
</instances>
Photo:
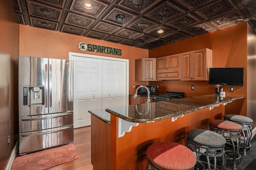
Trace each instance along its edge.
<instances>
[{"instance_id":1,"label":"grey-seated bar stool between the two red-seated stools","mask_svg":"<svg viewBox=\"0 0 256 170\"><path fill-rule=\"evenodd\" d=\"M222 157L222 170L226 167L226 154L225 154L225 144L226 139L213 131L205 129L192 129L186 133L187 136L187 147L196 152L196 169L205 169L204 164L207 164L208 169L216 170L216 158ZM200 155L206 156L207 162L200 161ZM214 158L214 165L210 163L210 159ZM199 166L202 166L199 167Z\"/></svg>"}]
</instances>

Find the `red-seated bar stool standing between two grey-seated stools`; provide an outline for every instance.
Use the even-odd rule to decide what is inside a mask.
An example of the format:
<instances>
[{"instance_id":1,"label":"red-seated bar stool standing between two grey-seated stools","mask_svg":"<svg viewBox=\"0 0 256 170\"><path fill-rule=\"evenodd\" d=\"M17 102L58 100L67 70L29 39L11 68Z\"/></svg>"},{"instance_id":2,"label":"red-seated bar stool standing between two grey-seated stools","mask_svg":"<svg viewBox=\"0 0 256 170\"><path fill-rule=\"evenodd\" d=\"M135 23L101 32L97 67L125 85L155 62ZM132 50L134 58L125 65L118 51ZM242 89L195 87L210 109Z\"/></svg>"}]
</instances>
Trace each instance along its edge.
<instances>
[{"instance_id":1,"label":"red-seated bar stool standing between two grey-seated stools","mask_svg":"<svg viewBox=\"0 0 256 170\"><path fill-rule=\"evenodd\" d=\"M209 125L210 130L222 134L222 136L226 138L226 144L232 146L232 148L226 147L227 149L225 149L225 153L228 160L233 160L233 169L236 170L236 160L241 158L239 149L241 143L240 133L242 131L242 126L237 123L225 120L211 120ZM228 152L232 152L233 156L230 156Z\"/></svg>"}]
</instances>

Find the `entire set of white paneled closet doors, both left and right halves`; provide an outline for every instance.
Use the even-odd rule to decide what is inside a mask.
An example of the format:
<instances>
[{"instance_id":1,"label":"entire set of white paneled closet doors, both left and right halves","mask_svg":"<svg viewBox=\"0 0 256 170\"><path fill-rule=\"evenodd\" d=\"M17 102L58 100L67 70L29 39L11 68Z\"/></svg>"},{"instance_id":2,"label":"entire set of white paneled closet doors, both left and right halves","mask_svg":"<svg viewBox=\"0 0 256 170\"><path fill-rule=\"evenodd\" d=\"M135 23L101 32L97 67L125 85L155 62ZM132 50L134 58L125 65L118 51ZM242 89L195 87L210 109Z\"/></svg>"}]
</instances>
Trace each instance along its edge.
<instances>
[{"instance_id":1,"label":"entire set of white paneled closet doors, both left and right halves","mask_svg":"<svg viewBox=\"0 0 256 170\"><path fill-rule=\"evenodd\" d=\"M91 125L88 110L128 105L128 61L103 58L70 55L74 60L74 128Z\"/></svg>"}]
</instances>

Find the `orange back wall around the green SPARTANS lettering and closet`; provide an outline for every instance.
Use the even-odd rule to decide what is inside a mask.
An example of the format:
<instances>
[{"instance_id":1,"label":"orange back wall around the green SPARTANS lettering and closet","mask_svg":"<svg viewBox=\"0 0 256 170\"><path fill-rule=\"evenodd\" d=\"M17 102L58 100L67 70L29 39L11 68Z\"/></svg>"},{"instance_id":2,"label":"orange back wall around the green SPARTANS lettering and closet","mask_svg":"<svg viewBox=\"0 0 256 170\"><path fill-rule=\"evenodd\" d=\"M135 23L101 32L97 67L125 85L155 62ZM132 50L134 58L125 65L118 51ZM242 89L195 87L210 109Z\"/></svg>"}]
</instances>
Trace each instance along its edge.
<instances>
[{"instance_id":1,"label":"orange back wall around the green SPARTANS lettering and closet","mask_svg":"<svg viewBox=\"0 0 256 170\"><path fill-rule=\"evenodd\" d=\"M80 51L80 42L122 49L122 56ZM132 85L142 84L135 82L135 59L148 58L147 49L20 25L20 55L68 59L68 52L129 59L129 91L134 90Z\"/></svg>"}]
</instances>

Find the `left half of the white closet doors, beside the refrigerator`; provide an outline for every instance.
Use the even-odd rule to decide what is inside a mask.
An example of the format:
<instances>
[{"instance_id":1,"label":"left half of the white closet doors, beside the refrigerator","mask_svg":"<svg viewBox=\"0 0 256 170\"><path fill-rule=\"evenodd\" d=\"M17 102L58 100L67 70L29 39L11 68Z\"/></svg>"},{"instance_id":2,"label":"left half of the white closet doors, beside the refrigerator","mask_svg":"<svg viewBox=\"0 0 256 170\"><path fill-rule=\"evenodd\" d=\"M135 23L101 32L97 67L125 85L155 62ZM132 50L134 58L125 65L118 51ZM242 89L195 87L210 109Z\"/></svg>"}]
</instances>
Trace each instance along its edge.
<instances>
[{"instance_id":1,"label":"left half of the white closet doors, beside the refrigerator","mask_svg":"<svg viewBox=\"0 0 256 170\"><path fill-rule=\"evenodd\" d=\"M90 109L101 108L102 60L72 56L74 60L74 128L91 125Z\"/></svg>"}]
</instances>

